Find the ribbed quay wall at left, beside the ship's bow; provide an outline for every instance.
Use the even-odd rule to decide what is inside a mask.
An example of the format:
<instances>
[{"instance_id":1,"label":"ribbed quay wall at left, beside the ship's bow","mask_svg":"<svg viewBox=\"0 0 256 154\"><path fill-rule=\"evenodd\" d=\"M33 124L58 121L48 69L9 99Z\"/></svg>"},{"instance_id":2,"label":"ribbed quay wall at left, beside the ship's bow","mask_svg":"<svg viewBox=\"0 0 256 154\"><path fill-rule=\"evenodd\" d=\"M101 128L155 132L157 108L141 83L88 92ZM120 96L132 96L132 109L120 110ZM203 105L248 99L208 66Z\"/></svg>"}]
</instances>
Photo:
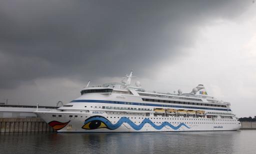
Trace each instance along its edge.
<instances>
[{"instance_id":1,"label":"ribbed quay wall at left, beside the ship's bow","mask_svg":"<svg viewBox=\"0 0 256 154\"><path fill-rule=\"evenodd\" d=\"M43 132L54 131L39 117L0 118L0 132Z\"/></svg>"}]
</instances>

